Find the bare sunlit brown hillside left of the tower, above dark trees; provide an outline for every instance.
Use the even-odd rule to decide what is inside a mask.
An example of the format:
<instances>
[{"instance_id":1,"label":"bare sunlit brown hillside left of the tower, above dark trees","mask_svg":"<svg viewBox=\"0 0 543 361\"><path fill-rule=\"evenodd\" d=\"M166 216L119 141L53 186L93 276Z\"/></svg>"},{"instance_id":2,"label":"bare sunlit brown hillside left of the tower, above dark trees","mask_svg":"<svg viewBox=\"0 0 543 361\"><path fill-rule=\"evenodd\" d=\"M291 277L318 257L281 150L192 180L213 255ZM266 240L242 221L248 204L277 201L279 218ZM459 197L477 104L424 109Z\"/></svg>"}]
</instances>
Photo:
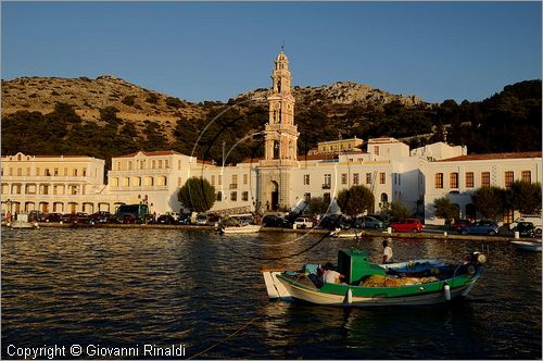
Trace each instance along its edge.
<instances>
[{"instance_id":1,"label":"bare sunlit brown hillside left of the tower, above dark trees","mask_svg":"<svg viewBox=\"0 0 543 361\"><path fill-rule=\"evenodd\" d=\"M146 121L159 122L167 135L179 117L200 119L205 115L202 107L111 75L96 79L22 77L2 80L2 115L17 111L47 114L56 103L73 105L87 122L100 122L100 109L114 107L119 119L134 123L138 129L143 128Z\"/></svg>"}]
</instances>

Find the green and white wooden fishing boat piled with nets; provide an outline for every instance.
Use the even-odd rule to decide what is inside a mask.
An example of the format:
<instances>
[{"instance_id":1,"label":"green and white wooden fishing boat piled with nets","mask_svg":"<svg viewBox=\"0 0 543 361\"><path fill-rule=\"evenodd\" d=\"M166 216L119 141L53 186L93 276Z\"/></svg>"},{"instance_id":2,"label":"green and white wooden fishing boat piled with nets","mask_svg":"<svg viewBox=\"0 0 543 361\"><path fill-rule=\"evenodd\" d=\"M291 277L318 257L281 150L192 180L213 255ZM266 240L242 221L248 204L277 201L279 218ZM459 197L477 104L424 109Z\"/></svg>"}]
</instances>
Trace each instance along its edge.
<instances>
[{"instance_id":1,"label":"green and white wooden fishing boat piled with nets","mask_svg":"<svg viewBox=\"0 0 543 361\"><path fill-rule=\"evenodd\" d=\"M433 304L467 296L485 260L484 254L473 252L458 264L438 260L375 264L365 252L340 250L338 272L345 276L341 284L318 287L315 264L302 271L263 269L262 273L270 299L348 307Z\"/></svg>"}]
</instances>

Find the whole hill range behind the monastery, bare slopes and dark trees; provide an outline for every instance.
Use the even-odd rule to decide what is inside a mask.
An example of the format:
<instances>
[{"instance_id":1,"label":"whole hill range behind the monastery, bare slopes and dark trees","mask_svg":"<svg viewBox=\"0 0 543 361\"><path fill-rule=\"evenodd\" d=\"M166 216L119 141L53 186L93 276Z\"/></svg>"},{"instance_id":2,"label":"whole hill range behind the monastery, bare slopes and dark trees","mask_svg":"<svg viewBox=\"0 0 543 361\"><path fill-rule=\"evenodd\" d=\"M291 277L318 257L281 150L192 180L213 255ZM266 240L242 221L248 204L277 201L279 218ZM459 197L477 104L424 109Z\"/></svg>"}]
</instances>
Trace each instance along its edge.
<instances>
[{"instance_id":1,"label":"whole hill range behind the monastery, bare slopes and dark trees","mask_svg":"<svg viewBox=\"0 0 543 361\"><path fill-rule=\"evenodd\" d=\"M296 100L299 150L337 137L391 136L412 147L443 140L478 152L541 149L541 80L509 85L481 102L427 103L368 85L334 83L292 89ZM227 103L186 100L103 75L22 77L2 80L2 152L87 154L105 160L138 149L173 149L219 161L222 145L237 145L231 162L262 155L258 133L268 119L268 89L255 89ZM508 126L517 132L510 134ZM318 126L316 126L318 125ZM205 130L205 132L204 132ZM497 137L501 134L504 137ZM518 136L517 136L518 134Z\"/></svg>"}]
</instances>

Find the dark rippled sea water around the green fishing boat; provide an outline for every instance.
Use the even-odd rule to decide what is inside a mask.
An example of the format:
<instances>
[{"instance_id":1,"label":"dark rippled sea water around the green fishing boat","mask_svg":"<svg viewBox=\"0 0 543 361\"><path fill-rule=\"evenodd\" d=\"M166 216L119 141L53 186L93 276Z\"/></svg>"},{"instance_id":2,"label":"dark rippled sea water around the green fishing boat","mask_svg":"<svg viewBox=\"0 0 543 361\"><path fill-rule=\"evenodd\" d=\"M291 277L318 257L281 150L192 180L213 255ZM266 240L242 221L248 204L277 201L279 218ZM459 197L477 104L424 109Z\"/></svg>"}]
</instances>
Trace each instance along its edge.
<instances>
[{"instance_id":1,"label":"dark rippled sea water around the green fishing boat","mask_svg":"<svg viewBox=\"0 0 543 361\"><path fill-rule=\"evenodd\" d=\"M184 345L186 358L197 359L541 359L541 253L505 242L394 239L396 260L459 260L489 246L489 262L469 297L451 304L343 309L269 301L263 265L336 261L338 248L365 249L374 261L381 256L381 238L320 237L2 231L2 357L10 358L9 345L67 350L77 344L89 358L88 345L149 344ZM288 258L264 260L279 257Z\"/></svg>"}]
</instances>

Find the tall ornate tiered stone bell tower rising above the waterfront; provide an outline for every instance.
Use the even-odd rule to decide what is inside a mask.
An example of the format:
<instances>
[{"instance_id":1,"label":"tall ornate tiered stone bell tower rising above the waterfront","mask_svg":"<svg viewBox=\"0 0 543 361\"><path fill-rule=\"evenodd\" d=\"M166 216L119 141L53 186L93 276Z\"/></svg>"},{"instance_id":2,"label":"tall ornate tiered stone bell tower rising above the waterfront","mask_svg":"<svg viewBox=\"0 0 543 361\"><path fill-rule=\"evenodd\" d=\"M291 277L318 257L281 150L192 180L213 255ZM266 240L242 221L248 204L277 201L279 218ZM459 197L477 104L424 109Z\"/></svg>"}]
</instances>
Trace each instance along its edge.
<instances>
[{"instance_id":1,"label":"tall ornate tiered stone bell tower rising above the waterfront","mask_svg":"<svg viewBox=\"0 0 543 361\"><path fill-rule=\"evenodd\" d=\"M264 159L258 164L258 198L265 211L290 204L290 171L298 167L298 126L294 97L290 91L289 59L281 49L274 62L268 100L268 123L264 127Z\"/></svg>"}]
</instances>

